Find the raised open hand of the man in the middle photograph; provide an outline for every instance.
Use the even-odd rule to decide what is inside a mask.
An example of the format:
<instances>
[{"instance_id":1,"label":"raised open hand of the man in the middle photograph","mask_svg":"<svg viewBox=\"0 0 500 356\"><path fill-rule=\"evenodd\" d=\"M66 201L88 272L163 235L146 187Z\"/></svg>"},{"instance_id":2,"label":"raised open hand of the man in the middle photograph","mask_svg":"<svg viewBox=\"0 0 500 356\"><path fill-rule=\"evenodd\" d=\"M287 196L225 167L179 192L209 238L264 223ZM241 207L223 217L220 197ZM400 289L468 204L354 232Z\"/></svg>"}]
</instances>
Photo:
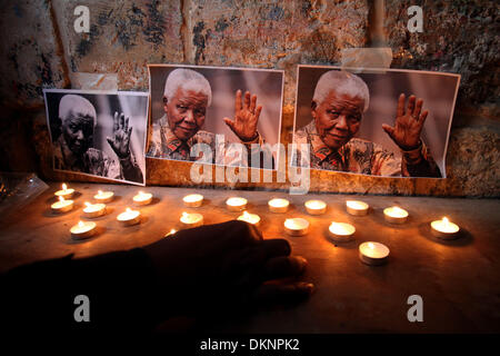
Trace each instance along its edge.
<instances>
[{"instance_id":1,"label":"raised open hand of the man in the middle photograph","mask_svg":"<svg viewBox=\"0 0 500 356\"><path fill-rule=\"evenodd\" d=\"M241 90L238 90L234 99L234 120L224 118L224 122L242 141L256 139L257 123L259 122L262 106L257 107L257 96L250 98L250 92L244 93L241 102Z\"/></svg>"}]
</instances>

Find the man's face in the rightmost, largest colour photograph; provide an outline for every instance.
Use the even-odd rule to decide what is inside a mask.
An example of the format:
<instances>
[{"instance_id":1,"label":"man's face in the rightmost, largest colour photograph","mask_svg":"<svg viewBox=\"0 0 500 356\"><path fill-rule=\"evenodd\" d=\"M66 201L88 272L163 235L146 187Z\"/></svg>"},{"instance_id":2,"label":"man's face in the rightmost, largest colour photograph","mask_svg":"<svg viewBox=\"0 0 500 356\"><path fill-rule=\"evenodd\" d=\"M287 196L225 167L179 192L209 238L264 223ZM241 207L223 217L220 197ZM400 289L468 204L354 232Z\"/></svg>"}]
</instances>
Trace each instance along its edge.
<instances>
[{"instance_id":1,"label":"man's face in the rightmost, largest colour photograph","mask_svg":"<svg viewBox=\"0 0 500 356\"><path fill-rule=\"evenodd\" d=\"M312 105L312 117L321 140L331 149L346 145L359 130L364 100L331 90L319 105Z\"/></svg>"}]
</instances>

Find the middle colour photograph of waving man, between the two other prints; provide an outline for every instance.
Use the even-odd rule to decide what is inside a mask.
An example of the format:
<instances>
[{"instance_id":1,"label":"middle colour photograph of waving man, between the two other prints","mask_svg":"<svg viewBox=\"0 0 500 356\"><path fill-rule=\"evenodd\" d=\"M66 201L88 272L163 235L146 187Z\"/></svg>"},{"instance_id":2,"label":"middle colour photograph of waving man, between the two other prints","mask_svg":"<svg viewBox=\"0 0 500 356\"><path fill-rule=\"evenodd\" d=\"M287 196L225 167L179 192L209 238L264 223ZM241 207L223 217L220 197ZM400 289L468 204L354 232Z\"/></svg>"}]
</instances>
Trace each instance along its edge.
<instances>
[{"instance_id":1,"label":"middle colour photograph of waving man, between the two other prints","mask_svg":"<svg viewBox=\"0 0 500 356\"><path fill-rule=\"evenodd\" d=\"M283 71L149 65L147 157L276 169ZM198 154L201 144L208 151Z\"/></svg>"}]
</instances>

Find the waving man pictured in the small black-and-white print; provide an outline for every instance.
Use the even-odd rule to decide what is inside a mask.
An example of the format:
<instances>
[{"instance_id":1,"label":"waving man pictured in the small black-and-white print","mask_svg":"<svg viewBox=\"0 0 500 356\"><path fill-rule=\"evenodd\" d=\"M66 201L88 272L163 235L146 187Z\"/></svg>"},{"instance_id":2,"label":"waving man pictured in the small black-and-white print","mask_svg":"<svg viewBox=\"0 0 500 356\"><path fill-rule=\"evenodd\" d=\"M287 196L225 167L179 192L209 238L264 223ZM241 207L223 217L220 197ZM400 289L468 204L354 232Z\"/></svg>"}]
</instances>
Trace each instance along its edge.
<instances>
[{"instance_id":1,"label":"waving man pictured in the small black-and-white print","mask_svg":"<svg viewBox=\"0 0 500 356\"><path fill-rule=\"evenodd\" d=\"M97 113L93 105L77 95L66 95L59 101L61 135L53 142L56 169L142 182L143 176L130 150L132 127L129 118L114 112L113 135L108 144L117 159L93 148Z\"/></svg>"}]
</instances>

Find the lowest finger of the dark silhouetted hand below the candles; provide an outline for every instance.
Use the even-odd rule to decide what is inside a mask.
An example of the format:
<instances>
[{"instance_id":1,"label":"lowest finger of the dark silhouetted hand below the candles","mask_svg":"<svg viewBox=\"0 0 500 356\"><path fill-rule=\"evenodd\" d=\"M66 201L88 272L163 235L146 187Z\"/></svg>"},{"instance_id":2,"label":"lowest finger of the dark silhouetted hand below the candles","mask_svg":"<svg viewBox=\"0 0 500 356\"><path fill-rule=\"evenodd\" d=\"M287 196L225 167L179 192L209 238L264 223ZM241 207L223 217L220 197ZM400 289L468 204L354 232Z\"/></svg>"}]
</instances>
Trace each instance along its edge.
<instances>
[{"instance_id":1,"label":"lowest finger of the dark silhouetted hand below the candles","mask_svg":"<svg viewBox=\"0 0 500 356\"><path fill-rule=\"evenodd\" d=\"M308 298L314 289L311 283L264 284L254 293L258 303L300 301Z\"/></svg>"}]
</instances>

